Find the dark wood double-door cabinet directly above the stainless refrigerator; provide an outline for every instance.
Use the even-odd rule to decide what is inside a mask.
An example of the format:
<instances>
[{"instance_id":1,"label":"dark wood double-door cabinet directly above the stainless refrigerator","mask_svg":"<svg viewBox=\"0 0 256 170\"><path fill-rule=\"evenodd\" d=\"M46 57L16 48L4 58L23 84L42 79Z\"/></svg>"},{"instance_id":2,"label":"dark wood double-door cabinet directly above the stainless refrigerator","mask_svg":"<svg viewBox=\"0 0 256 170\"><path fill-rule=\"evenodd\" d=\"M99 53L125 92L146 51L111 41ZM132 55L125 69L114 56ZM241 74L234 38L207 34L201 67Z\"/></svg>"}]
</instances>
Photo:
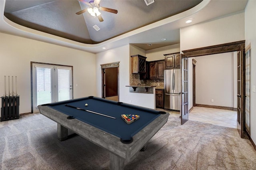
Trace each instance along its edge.
<instances>
[{"instance_id":1,"label":"dark wood double-door cabinet directly above the stainless refrigerator","mask_svg":"<svg viewBox=\"0 0 256 170\"><path fill-rule=\"evenodd\" d=\"M179 69L180 68L180 52L164 54L165 66L164 69Z\"/></svg>"}]
</instances>

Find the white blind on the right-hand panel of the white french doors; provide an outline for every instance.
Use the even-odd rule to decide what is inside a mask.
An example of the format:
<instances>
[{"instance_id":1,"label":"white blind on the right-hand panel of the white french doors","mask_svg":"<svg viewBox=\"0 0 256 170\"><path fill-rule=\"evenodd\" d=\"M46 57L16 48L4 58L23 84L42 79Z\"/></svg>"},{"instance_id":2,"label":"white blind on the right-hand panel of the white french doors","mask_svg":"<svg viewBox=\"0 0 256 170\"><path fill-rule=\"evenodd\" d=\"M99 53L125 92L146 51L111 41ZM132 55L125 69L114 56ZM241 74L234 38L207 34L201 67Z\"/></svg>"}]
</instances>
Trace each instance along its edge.
<instances>
[{"instance_id":1,"label":"white blind on the right-hand panel of the white french doors","mask_svg":"<svg viewBox=\"0 0 256 170\"><path fill-rule=\"evenodd\" d=\"M57 67L58 74L58 101L69 100L70 98L70 69Z\"/></svg>"}]
</instances>

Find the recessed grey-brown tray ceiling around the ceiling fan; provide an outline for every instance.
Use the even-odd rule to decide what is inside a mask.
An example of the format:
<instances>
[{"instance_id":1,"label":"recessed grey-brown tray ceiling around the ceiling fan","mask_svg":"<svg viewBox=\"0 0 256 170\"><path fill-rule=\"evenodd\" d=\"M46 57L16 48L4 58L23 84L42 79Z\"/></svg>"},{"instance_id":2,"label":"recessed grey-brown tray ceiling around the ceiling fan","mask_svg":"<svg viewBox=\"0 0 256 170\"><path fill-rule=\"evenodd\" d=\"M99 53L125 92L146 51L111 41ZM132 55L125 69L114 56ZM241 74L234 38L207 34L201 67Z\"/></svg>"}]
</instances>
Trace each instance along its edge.
<instances>
[{"instance_id":1,"label":"recessed grey-brown tray ceiling around the ceiling fan","mask_svg":"<svg viewBox=\"0 0 256 170\"><path fill-rule=\"evenodd\" d=\"M88 12L76 15L88 7L78 0L6 0L4 16L34 30L96 44L184 12L200 2L202 0L155 0L147 6L144 0L101 0L100 6L116 9L118 13L100 11L104 21L99 22ZM94 25L100 30L96 31Z\"/></svg>"}]
</instances>

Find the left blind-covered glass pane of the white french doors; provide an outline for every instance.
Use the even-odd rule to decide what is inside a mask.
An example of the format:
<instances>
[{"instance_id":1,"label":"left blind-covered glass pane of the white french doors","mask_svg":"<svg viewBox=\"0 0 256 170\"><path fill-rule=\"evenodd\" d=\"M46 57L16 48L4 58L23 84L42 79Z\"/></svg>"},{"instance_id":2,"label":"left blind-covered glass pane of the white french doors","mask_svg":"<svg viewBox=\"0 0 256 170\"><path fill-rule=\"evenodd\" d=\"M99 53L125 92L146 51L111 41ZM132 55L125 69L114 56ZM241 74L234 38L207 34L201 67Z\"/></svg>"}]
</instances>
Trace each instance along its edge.
<instances>
[{"instance_id":1,"label":"left blind-covered glass pane of the white french doors","mask_svg":"<svg viewBox=\"0 0 256 170\"><path fill-rule=\"evenodd\" d=\"M52 102L51 68L36 67L36 106Z\"/></svg>"}]
</instances>

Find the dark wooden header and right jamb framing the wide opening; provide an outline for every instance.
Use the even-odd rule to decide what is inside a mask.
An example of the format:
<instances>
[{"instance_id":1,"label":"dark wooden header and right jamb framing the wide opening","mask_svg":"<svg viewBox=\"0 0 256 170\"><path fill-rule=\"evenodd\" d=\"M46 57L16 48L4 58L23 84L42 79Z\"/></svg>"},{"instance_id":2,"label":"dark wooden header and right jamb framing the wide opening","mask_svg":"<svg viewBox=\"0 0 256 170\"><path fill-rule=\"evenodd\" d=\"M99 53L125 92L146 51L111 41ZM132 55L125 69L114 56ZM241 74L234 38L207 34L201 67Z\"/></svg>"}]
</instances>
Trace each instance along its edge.
<instances>
[{"instance_id":1,"label":"dark wooden header and right jamb framing the wide opening","mask_svg":"<svg viewBox=\"0 0 256 170\"><path fill-rule=\"evenodd\" d=\"M202 48L195 48L182 51L184 55L187 57L198 57L202 55L211 55L211 54L218 54L218 53L227 53L227 52L234 52L234 51L241 51L241 132L239 132L241 138L246 136L245 128L244 128L244 114L245 114L245 40L238 41L238 42L230 42L230 43L223 43L219 45L212 45L208 47Z\"/></svg>"}]
</instances>

